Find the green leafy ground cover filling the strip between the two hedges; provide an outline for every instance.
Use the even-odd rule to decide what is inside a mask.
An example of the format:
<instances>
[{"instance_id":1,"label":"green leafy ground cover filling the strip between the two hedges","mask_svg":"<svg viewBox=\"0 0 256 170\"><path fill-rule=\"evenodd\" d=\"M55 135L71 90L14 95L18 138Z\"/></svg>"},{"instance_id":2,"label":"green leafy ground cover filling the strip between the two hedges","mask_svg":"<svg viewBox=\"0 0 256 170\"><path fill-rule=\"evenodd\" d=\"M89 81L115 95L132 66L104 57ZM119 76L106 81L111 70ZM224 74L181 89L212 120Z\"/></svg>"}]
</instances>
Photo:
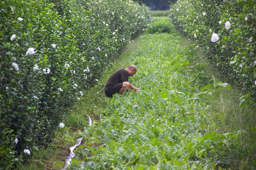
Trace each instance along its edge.
<instances>
[{"instance_id":1,"label":"green leafy ground cover filling the strip between the two hedges","mask_svg":"<svg viewBox=\"0 0 256 170\"><path fill-rule=\"evenodd\" d=\"M240 93L216 85L211 67L188 46L178 32L139 36L68 114L64 123L76 133L57 134L52 148L21 167L60 168L65 148L85 136L69 169L253 169L255 109L240 108ZM109 76L130 64L141 92L107 98Z\"/></svg>"}]
</instances>

